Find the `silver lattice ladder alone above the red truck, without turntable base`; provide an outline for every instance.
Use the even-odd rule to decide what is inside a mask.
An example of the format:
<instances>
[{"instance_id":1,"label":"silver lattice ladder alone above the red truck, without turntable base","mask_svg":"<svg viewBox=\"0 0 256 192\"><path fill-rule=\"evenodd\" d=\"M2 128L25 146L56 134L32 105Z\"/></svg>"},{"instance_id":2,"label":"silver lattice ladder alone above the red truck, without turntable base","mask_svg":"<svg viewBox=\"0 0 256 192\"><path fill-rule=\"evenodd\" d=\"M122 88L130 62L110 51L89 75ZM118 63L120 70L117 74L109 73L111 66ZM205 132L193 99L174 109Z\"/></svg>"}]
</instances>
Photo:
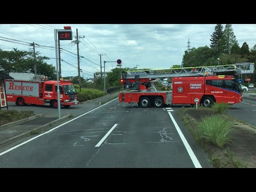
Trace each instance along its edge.
<instances>
[{"instance_id":1,"label":"silver lattice ladder alone above the red truck, without turntable base","mask_svg":"<svg viewBox=\"0 0 256 192\"><path fill-rule=\"evenodd\" d=\"M235 63L232 65L219 66L203 66L203 67L184 67L184 68L170 68L170 69L145 69L145 70L127 70L124 71L126 79L134 79L135 75L139 78L162 78L162 77L189 77L189 76L205 76L215 75L219 72L234 71L238 74L253 74L254 63Z\"/></svg>"}]
</instances>

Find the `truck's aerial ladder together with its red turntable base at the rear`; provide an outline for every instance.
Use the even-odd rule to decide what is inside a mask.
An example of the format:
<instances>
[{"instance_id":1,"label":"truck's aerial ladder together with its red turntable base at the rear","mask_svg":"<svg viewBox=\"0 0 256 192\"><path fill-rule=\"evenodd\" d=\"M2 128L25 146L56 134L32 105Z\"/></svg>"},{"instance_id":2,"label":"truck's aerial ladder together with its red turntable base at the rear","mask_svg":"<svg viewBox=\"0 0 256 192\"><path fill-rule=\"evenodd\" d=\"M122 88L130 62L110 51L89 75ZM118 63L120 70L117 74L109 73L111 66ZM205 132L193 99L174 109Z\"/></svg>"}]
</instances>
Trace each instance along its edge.
<instances>
[{"instance_id":1,"label":"truck's aerial ladder together with its red turntable base at the rear","mask_svg":"<svg viewBox=\"0 0 256 192\"><path fill-rule=\"evenodd\" d=\"M126 70L122 73L121 83L124 84L124 89L145 90L150 87L150 82L156 78L210 76L230 71L234 72L234 75L254 74L254 63L243 62L218 66Z\"/></svg>"}]
</instances>

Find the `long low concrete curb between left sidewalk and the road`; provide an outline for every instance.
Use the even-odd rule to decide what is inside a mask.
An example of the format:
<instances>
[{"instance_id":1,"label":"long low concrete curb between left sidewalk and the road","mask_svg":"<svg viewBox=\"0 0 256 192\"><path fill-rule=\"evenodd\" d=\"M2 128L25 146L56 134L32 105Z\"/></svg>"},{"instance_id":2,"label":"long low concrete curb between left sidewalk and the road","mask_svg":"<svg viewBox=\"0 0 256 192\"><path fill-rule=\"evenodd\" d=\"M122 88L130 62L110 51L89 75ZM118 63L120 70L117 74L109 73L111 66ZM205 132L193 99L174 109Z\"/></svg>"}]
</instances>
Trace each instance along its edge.
<instances>
[{"instance_id":1,"label":"long low concrete curb between left sidewalk and the road","mask_svg":"<svg viewBox=\"0 0 256 192\"><path fill-rule=\"evenodd\" d=\"M39 127L35 128L35 129L32 129L31 131L38 131L38 132L45 131L47 129L47 127L52 127L53 125L56 125L56 124L58 124L58 123L60 123L62 121L65 121L68 118L71 118L71 116L70 115L66 115L64 117L61 117L60 119L56 119L56 120L54 120L52 122L46 123L46 124L44 124L42 126L39 126ZM7 146L7 145L9 145L9 144L11 144L11 143L13 143L15 141L18 141L20 139L28 137L28 134L31 131L27 131L25 133L16 135L15 137L12 137L10 139L6 139L6 140L0 142L0 147Z\"/></svg>"}]
</instances>

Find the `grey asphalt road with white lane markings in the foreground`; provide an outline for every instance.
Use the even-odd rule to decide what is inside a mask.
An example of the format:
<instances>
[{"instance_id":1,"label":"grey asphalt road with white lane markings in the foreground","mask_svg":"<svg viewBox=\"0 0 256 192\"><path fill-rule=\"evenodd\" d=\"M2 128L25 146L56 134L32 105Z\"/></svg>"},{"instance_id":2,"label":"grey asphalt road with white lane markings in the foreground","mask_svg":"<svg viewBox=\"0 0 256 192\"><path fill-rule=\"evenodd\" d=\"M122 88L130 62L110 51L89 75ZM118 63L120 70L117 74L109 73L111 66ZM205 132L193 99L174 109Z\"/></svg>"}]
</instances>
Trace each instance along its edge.
<instances>
[{"instance_id":1,"label":"grey asphalt road with white lane markings in the foreground","mask_svg":"<svg viewBox=\"0 0 256 192\"><path fill-rule=\"evenodd\" d=\"M212 167L177 109L114 100L0 153L0 167Z\"/></svg>"}]
</instances>

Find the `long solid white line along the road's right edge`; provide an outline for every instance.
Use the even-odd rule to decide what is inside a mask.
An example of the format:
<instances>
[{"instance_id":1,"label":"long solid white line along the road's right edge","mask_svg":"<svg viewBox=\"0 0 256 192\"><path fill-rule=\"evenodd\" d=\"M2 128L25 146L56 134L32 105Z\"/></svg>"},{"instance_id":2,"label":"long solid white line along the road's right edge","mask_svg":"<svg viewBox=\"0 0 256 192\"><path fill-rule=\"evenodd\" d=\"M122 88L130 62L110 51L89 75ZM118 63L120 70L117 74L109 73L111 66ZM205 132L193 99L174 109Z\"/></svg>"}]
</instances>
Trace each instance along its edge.
<instances>
[{"instance_id":1,"label":"long solid white line along the road's right edge","mask_svg":"<svg viewBox=\"0 0 256 192\"><path fill-rule=\"evenodd\" d=\"M195 156L193 150L192 150L191 147L189 146L188 141L186 140L186 138L184 137L183 133L181 132L179 125L176 123L176 121L175 121L175 119L173 118L172 114L171 114L170 112L168 112L168 113L169 113L169 115L170 115L170 117L171 117L171 119L172 119L172 122L173 122L173 124L174 124L176 130L178 131L178 133L179 133L179 135L180 135L180 138L181 138L183 144L185 145L185 147L186 147L186 149L187 149L187 151L188 151L188 154L189 154L189 156L190 156L190 158L191 158L193 164L195 165L196 168L202 168L202 166L201 166L201 164L198 162L198 159L196 158L196 156Z\"/></svg>"}]
</instances>

